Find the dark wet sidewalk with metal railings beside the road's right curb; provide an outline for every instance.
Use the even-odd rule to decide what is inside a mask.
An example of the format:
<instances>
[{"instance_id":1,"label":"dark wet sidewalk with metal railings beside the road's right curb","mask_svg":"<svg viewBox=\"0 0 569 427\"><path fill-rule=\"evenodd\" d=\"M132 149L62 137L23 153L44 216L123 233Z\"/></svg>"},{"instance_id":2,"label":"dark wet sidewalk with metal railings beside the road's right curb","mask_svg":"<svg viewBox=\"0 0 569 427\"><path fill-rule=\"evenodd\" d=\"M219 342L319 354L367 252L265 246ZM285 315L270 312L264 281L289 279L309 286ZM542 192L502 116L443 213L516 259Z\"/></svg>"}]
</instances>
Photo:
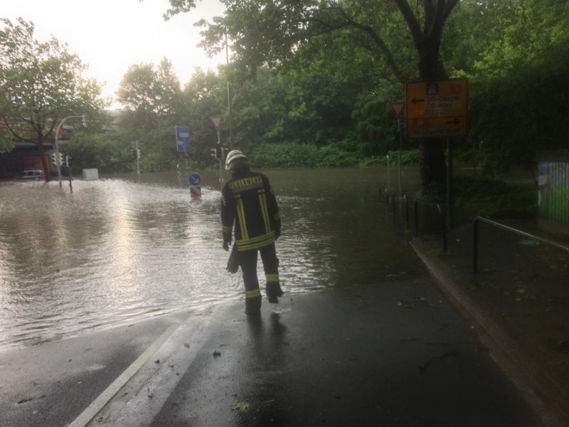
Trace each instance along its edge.
<instances>
[{"instance_id":1,"label":"dark wet sidewalk with metal railings beside the road's right curb","mask_svg":"<svg viewBox=\"0 0 569 427\"><path fill-rule=\"evenodd\" d=\"M446 253L440 236L410 245L496 362L569 425L568 253L480 223L473 273L472 242L471 223L447 233Z\"/></svg>"}]
</instances>

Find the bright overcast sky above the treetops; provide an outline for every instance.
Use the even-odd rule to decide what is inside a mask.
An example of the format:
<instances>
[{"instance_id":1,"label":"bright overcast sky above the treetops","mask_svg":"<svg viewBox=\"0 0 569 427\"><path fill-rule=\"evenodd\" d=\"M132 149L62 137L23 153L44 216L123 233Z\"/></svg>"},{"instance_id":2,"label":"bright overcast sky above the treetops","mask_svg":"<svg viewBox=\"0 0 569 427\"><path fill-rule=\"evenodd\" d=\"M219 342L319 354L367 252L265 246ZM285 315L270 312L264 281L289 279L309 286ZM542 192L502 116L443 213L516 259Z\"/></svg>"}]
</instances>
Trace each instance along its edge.
<instances>
[{"instance_id":1,"label":"bright overcast sky above the treetops","mask_svg":"<svg viewBox=\"0 0 569 427\"><path fill-rule=\"evenodd\" d=\"M114 96L129 65L158 65L165 56L184 85L195 67L216 70L225 61L225 52L208 58L196 47L200 28L193 26L198 19L223 16L218 0L198 1L191 13L165 22L168 7L168 0L2 0L0 17L32 21L38 41L53 35L68 43L68 50L89 65L85 77L106 83L102 95Z\"/></svg>"}]
</instances>

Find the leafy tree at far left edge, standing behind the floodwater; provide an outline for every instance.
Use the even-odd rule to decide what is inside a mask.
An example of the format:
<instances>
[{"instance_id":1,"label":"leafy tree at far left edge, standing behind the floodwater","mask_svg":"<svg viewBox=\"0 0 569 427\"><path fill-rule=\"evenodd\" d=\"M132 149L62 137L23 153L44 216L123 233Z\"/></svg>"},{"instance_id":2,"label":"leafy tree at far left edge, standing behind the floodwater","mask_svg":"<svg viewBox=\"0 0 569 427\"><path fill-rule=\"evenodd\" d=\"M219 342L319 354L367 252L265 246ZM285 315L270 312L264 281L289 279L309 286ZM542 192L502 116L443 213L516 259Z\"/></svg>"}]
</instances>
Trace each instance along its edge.
<instances>
[{"instance_id":1,"label":"leafy tree at far left edge, standing behind the floodwater","mask_svg":"<svg viewBox=\"0 0 569 427\"><path fill-rule=\"evenodd\" d=\"M105 100L100 85L82 77L86 66L66 44L55 38L37 41L33 23L21 18L16 25L9 19L1 23L0 138L35 144L47 171L43 147L59 122L68 115L99 117Z\"/></svg>"}]
</instances>

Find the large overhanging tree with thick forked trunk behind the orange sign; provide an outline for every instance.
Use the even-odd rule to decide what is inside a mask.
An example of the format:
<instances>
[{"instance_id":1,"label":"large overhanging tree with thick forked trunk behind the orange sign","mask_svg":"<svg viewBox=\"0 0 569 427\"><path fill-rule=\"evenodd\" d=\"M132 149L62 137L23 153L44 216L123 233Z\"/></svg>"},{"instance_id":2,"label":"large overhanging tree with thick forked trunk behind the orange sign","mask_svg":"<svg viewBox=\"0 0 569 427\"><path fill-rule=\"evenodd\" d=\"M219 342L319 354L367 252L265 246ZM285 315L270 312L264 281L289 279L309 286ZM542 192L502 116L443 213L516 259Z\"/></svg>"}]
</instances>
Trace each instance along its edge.
<instances>
[{"instance_id":1,"label":"large overhanging tree with thick forked trunk behind the orange sign","mask_svg":"<svg viewBox=\"0 0 569 427\"><path fill-rule=\"evenodd\" d=\"M447 78L440 60L442 33L447 19L459 0L425 0L415 4L408 0L222 0L227 7L222 22L207 26L201 43L209 52L219 51L228 33L233 39L234 60L243 68L287 63L304 52L315 39L330 34L344 34L357 46L390 68L400 83L408 80ZM165 18L191 11L195 0L170 0ZM395 14L398 11L398 15ZM414 48L417 66L409 75L402 62L408 49L396 50L402 36L392 38L402 28L408 30L408 43ZM346 58L349 60L349 58ZM422 181L445 181L443 144L422 144Z\"/></svg>"}]
</instances>

